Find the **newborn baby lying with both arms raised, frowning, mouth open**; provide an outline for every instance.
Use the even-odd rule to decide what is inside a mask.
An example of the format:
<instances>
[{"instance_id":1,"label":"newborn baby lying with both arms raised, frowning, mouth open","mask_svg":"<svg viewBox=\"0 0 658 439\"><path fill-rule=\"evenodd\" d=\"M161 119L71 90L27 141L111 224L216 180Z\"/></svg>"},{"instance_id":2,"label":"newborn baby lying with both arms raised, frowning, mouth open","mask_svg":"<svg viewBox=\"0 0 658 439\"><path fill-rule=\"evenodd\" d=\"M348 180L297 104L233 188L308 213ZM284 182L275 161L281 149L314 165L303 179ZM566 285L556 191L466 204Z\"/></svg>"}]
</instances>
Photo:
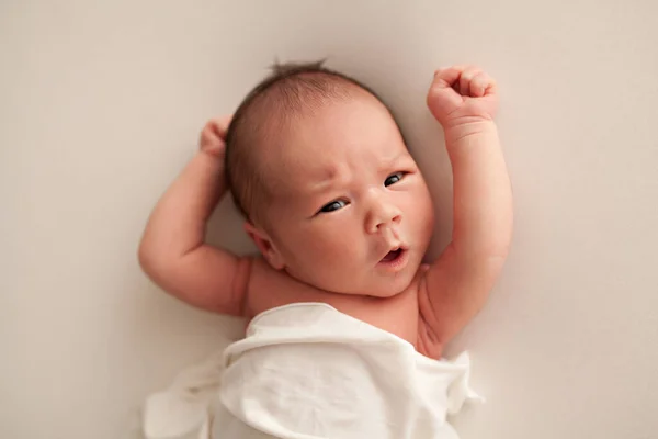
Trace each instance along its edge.
<instances>
[{"instance_id":1,"label":"newborn baby lying with both arms raised, frowning, mouth open","mask_svg":"<svg viewBox=\"0 0 658 439\"><path fill-rule=\"evenodd\" d=\"M439 363L434 360L483 307L502 269L512 195L494 123L496 82L473 66L440 69L427 104L443 126L454 175L452 240L431 264L422 261L434 224L432 201L389 110L356 80L308 64L277 67L230 124L228 117L206 124L200 151L150 216L139 248L144 271L191 305L242 316L252 325L285 312L275 326L295 328L293 338L310 337L327 311L337 324L325 338L348 327L364 330L362 339L385 331L393 344L413 348L419 357L413 361ZM204 243L206 222L227 189L259 257ZM317 304L325 305L310 306ZM291 306L297 306L294 313ZM308 322L295 326L298 316ZM252 333L272 322L262 320ZM340 357L332 356L324 361ZM331 423L318 421L314 413L313 427L296 419L286 428L309 437L347 437L328 430ZM245 423L283 436L279 427ZM354 431L354 424L349 428ZM375 431L366 430L354 437Z\"/></svg>"}]
</instances>

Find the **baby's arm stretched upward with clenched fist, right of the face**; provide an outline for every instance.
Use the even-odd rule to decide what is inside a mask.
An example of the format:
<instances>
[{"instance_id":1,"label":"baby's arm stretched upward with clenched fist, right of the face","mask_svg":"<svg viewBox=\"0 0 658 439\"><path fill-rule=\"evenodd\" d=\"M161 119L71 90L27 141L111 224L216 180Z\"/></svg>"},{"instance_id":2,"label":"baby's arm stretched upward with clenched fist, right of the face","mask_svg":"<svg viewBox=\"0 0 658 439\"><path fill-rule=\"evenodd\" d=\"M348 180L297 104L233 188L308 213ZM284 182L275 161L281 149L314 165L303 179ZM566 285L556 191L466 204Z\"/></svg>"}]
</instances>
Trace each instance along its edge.
<instances>
[{"instance_id":1,"label":"baby's arm stretched upward with clenched fist, right of the face","mask_svg":"<svg viewBox=\"0 0 658 439\"><path fill-rule=\"evenodd\" d=\"M440 350L483 307L502 269L512 193L494 123L495 81L476 67L439 70L428 106L443 125L454 182L452 240L419 294L428 338Z\"/></svg>"}]
</instances>

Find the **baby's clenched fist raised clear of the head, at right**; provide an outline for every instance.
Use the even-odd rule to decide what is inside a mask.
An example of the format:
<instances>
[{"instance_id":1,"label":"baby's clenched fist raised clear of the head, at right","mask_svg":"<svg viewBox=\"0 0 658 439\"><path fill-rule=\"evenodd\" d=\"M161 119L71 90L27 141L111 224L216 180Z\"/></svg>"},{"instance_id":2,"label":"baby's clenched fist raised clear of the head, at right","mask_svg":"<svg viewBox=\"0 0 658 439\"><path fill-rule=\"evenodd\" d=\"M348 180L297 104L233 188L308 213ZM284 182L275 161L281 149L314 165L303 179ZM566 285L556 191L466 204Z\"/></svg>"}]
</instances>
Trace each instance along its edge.
<instances>
[{"instance_id":1,"label":"baby's clenched fist raised clear of the head, at right","mask_svg":"<svg viewBox=\"0 0 658 439\"><path fill-rule=\"evenodd\" d=\"M440 69L434 74L427 102L444 130L491 121L498 109L496 81L475 66Z\"/></svg>"}]
</instances>

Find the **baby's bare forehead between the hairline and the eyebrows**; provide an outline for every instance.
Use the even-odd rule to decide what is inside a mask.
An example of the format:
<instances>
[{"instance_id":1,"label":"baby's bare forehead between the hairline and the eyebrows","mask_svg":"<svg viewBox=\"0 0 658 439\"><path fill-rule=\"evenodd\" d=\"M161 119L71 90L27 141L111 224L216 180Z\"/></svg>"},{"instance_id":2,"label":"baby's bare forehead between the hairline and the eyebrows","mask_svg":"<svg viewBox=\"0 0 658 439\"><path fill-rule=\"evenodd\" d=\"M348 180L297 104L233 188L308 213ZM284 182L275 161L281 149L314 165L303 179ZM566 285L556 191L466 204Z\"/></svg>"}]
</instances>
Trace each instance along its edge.
<instances>
[{"instance_id":1,"label":"baby's bare forehead between the hairline and the eyebrows","mask_svg":"<svg viewBox=\"0 0 658 439\"><path fill-rule=\"evenodd\" d=\"M269 144L261 156L263 170L272 189L290 194L368 172L407 154L386 108L361 97L295 117Z\"/></svg>"}]
</instances>

